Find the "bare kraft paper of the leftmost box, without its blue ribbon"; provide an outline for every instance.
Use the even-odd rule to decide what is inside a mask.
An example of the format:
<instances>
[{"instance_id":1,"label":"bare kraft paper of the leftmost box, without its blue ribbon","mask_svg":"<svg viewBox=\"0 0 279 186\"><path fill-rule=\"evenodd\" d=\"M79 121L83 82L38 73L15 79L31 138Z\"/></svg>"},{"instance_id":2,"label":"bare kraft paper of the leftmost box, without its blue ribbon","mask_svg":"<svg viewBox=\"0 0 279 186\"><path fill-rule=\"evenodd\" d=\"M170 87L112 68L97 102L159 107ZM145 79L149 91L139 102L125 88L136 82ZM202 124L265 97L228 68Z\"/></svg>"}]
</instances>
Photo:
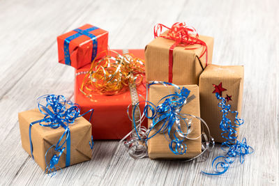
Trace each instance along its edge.
<instances>
[{"instance_id":1,"label":"bare kraft paper of the leftmost box, without its blue ribbon","mask_svg":"<svg viewBox=\"0 0 279 186\"><path fill-rule=\"evenodd\" d=\"M31 155L29 143L29 125L33 121L42 119L45 115L41 114L38 109L22 111L18 114L20 123L20 134L22 139L22 147ZM70 128L70 165L91 160L91 123L85 118L79 117L75 119L75 123L69 125ZM45 153L52 145L56 145L61 135L65 132L63 127L52 129L50 127L40 126L38 123L31 127L31 139L33 144L33 157L40 168L46 169ZM65 139L65 137L63 138ZM64 144L66 147L66 143ZM66 147L67 148L67 147ZM52 148L54 149L54 148ZM54 150L49 150L47 153L47 163L54 155ZM57 155L59 155L57 153ZM56 167L66 166L66 149L59 158Z\"/></svg>"}]
</instances>

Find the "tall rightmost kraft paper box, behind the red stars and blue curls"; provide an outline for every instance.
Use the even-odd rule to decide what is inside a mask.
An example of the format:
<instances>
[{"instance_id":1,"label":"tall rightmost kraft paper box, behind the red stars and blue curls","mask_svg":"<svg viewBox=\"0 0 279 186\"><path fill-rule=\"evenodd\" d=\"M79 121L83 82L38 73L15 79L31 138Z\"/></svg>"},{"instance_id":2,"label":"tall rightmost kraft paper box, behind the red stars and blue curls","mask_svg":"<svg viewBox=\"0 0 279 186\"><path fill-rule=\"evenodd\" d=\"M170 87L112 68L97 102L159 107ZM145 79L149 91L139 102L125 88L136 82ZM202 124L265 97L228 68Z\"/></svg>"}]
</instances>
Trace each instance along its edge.
<instances>
[{"instance_id":1,"label":"tall rightmost kraft paper box, behind the red stars and blue curls","mask_svg":"<svg viewBox=\"0 0 279 186\"><path fill-rule=\"evenodd\" d=\"M242 93L243 93L243 75L244 68L241 65L221 66L208 65L202 75L199 77L199 96L201 102L201 116L209 125L211 136L216 142L224 142L226 139L221 137L220 121L222 120L221 108L218 107L220 100L216 98L216 93L212 93L215 88L222 82L222 87L227 91L222 92L224 98L231 96L227 104L231 105L231 111L238 111L241 116ZM229 114L228 118L234 123L235 114ZM236 128L237 134L239 127Z\"/></svg>"}]
</instances>

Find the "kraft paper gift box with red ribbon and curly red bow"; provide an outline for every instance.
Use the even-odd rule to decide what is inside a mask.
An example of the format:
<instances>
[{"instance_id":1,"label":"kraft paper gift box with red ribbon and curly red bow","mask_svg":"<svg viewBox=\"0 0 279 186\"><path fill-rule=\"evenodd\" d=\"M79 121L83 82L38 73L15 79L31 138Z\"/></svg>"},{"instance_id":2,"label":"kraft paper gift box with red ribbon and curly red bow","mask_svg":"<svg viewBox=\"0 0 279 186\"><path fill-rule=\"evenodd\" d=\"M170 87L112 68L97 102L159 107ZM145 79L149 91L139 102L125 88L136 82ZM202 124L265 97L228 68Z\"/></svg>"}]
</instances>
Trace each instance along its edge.
<instances>
[{"instance_id":1,"label":"kraft paper gift box with red ribbon and curly red bow","mask_svg":"<svg viewBox=\"0 0 279 186\"><path fill-rule=\"evenodd\" d=\"M162 27L167 31L160 35ZM158 24L154 34L156 38L145 48L146 81L198 84L202 70L212 61L213 38L199 36L181 23L172 28Z\"/></svg>"}]
</instances>

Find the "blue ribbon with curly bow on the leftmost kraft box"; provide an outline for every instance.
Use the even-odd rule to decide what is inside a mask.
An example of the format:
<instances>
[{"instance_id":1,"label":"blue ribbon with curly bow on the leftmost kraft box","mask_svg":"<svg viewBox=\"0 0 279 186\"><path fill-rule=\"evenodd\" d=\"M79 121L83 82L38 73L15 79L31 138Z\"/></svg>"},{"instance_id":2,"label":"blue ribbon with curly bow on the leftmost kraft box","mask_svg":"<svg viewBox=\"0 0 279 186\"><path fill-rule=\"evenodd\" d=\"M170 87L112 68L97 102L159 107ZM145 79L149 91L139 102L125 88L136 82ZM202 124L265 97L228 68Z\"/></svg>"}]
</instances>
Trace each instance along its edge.
<instances>
[{"instance_id":1,"label":"blue ribbon with curly bow on the leftmost kraft box","mask_svg":"<svg viewBox=\"0 0 279 186\"><path fill-rule=\"evenodd\" d=\"M54 154L49 163L47 163L47 153L50 148L45 153L45 162L47 168L45 169L46 173L52 173L54 176L56 172L55 165L59 162L59 158L61 157L63 151L66 149L66 166L70 166L70 128L69 125L75 122L76 118L80 116L84 116L85 114L91 111L91 116L89 122L91 121L93 109L90 109L86 113L80 115L80 105L71 102L70 100L66 100L63 95L43 95L37 99L38 109L40 113L44 114L44 118L38 121L34 121L29 125L29 142L30 142L30 150L31 157L33 157L33 144L31 140L31 127L35 124L39 124L43 127L51 127L52 129L56 129L59 127L63 127L65 132L61 135L59 141L55 146L51 146L50 148L54 148L59 155ZM65 139L63 140L63 137ZM63 147L66 144L66 147ZM89 146L93 148L93 137L91 137L91 142L89 141Z\"/></svg>"}]
</instances>

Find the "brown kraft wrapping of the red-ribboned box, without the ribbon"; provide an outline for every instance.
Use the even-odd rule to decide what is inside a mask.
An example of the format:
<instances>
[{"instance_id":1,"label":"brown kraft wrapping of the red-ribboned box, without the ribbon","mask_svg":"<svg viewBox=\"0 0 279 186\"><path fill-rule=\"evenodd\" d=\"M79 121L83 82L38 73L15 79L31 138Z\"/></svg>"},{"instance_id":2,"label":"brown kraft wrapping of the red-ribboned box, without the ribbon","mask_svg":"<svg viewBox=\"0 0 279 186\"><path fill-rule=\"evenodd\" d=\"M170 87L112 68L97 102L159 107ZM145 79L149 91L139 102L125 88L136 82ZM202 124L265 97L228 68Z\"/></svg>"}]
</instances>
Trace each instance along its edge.
<instances>
[{"instance_id":1,"label":"brown kraft wrapping of the red-ribboned box, without the ribbon","mask_svg":"<svg viewBox=\"0 0 279 186\"><path fill-rule=\"evenodd\" d=\"M208 49L208 64L212 61L213 38L199 36L200 40L206 42ZM158 37L151 41L145 48L146 81L169 81L169 48L174 40ZM195 48L197 49L190 49ZM188 48L188 49L187 49ZM172 83L177 85L198 84L202 67L206 65L206 54L199 59L203 47L200 45L189 45L187 47L175 47L173 53L173 79Z\"/></svg>"}]
</instances>

